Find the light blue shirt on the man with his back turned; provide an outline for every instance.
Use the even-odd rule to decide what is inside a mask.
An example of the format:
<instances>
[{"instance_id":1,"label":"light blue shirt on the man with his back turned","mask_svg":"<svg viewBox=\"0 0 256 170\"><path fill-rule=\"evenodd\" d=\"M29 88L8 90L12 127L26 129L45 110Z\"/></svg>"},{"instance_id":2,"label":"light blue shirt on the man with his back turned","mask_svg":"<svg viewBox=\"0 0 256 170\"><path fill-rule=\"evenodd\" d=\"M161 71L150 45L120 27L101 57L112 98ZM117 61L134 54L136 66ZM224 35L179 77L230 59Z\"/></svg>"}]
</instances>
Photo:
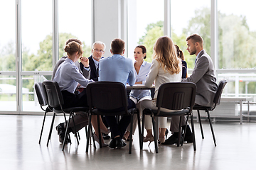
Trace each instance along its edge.
<instances>
[{"instance_id":1,"label":"light blue shirt on the man with his back turned","mask_svg":"<svg viewBox=\"0 0 256 170\"><path fill-rule=\"evenodd\" d=\"M100 60L99 81L118 81L133 86L135 83L134 65L131 59L122 55L112 55Z\"/></svg>"}]
</instances>

